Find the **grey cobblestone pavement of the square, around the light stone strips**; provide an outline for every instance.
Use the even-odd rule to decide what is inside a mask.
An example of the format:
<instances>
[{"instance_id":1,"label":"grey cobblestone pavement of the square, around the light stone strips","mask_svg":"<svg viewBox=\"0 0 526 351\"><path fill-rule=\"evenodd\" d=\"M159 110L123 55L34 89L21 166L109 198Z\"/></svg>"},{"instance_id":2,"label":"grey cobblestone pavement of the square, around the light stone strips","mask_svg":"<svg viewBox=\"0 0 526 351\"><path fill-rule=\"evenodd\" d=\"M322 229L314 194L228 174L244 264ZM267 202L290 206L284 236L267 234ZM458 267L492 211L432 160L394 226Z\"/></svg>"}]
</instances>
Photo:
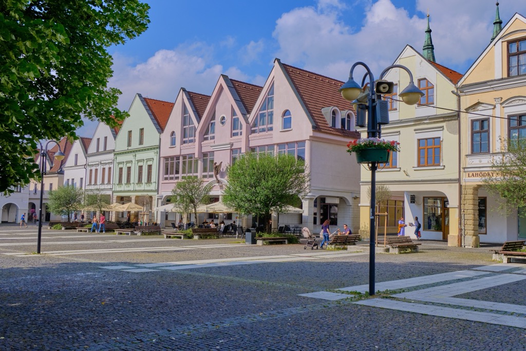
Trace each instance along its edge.
<instances>
[{"instance_id":1,"label":"grey cobblestone pavement of the square, around the light stone strips","mask_svg":"<svg viewBox=\"0 0 526 351\"><path fill-rule=\"evenodd\" d=\"M367 284L368 254L239 242L45 229L43 254L31 255L36 229L1 225L0 349L526 349L523 328L357 305L355 295L337 301L299 296ZM419 253L377 254L376 280L491 265L490 249L423 240ZM265 262L247 264L257 257ZM145 266L199 260L224 265ZM108 266L148 272L102 268ZM524 305L525 284L461 297Z\"/></svg>"}]
</instances>

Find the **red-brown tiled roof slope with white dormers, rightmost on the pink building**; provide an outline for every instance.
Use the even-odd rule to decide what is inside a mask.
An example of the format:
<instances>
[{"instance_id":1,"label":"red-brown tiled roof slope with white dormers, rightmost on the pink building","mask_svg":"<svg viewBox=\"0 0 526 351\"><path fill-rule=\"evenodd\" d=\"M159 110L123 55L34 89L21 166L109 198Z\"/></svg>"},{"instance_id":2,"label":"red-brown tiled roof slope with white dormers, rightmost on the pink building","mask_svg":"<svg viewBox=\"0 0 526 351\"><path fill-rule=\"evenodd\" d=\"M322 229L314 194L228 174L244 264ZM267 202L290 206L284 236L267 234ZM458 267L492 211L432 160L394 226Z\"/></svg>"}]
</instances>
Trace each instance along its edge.
<instances>
[{"instance_id":1,"label":"red-brown tiled roof slope with white dormers, rightmost on the pink building","mask_svg":"<svg viewBox=\"0 0 526 351\"><path fill-rule=\"evenodd\" d=\"M297 67L282 65L299 93L301 100L307 107L318 131L333 135L360 137L358 132L329 126L327 119L321 112L322 108L331 106L338 107L340 111L353 110L350 102L338 92L343 82Z\"/></svg>"}]
</instances>

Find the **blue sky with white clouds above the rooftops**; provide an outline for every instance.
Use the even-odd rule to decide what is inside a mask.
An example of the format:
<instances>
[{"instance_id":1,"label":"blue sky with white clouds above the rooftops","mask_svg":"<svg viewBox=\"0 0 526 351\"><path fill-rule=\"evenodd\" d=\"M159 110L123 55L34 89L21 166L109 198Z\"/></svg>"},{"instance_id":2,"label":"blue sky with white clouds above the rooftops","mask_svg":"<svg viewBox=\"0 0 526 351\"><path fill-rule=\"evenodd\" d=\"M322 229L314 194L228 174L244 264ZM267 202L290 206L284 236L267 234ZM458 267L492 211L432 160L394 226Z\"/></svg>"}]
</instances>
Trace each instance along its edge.
<instances>
[{"instance_id":1,"label":"blue sky with white clouds above the rooftops","mask_svg":"<svg viewBox=\"0 0 526 351\"><path fill-rule=\"evenodd\" d=\"M150 0L149 28L110 48L127 110L135 93L173 102L181 87L211 94L220 74L262 85L274 59L346 81L357 61L376 75L406 44L421 51L430 13L437 62L460 73L489 44L493 0ZM503 0L505 24L526 1ZM80 136L92 137L86 122Z\"/></svg>"}]
</instances>

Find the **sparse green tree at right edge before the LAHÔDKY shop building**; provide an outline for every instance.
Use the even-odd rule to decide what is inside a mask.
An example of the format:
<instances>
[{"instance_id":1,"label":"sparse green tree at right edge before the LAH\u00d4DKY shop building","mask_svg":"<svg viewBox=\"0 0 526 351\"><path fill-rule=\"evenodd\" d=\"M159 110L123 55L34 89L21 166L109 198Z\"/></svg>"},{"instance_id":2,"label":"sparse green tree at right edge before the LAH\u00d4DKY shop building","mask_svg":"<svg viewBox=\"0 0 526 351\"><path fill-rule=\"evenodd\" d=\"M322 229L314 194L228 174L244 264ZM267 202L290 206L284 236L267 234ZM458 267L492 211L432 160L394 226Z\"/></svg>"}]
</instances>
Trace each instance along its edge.
<instances>
[{"instance_id":1,"label":"sparse green tree at right edge before the LAH\u00d4DKY shop building","mask_svg":"<svg viewBox=\"0 0 526 351\"><path fill-rule=\"evenodd\" d=\"M482 183L488 192L498 201L497 209L510 214L515 210L526 210L526 140L519 139L509 141L499 139L503 146L507 146L507 152L495 156L491 162L491 172L482 178Z\"/></svg>"}]
</instances>

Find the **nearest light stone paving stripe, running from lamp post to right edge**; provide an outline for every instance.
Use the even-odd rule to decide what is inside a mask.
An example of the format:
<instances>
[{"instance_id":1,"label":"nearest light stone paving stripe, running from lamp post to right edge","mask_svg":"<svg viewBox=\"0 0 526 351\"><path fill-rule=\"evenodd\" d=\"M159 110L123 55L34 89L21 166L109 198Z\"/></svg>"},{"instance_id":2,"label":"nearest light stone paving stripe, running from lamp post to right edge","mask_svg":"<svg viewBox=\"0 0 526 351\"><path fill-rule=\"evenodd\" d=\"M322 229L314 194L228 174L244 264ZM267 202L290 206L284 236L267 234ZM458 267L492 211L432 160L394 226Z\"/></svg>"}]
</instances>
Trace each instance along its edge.
<instances>
[{"instance_id":1,"label":"nearest light stone paving stripe, running from lamp post to right edge","mask_svg":"<svg viewBox=\"0 0 526 351\"><path fill-rule=\"evenodd\" d=\"M409 302L373 298L355 302L354 304L395 309L404 312L427 314L430 316L456 318L464 320L472 320L474 322L484 322L498 325L506 325L510 327L526 328L526 318L517 316L507 316L495 313L469 311L465 309L457 309L451 307L433 306L414 304Z\"/></svg>"}]
</instances>

